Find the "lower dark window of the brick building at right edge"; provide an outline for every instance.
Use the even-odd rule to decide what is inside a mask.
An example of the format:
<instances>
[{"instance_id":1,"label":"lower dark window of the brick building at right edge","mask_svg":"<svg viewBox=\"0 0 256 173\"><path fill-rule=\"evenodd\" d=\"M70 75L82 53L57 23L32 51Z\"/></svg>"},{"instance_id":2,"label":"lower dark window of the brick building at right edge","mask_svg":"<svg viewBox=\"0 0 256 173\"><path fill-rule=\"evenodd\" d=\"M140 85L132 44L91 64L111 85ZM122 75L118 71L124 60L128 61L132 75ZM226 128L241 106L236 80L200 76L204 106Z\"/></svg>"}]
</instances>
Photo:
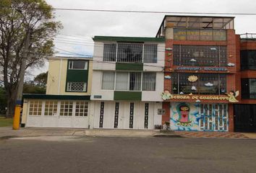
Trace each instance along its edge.
<instances>
[{"instance_id":1,"label":"lower dark window of the brick building at right edge","mask_svg":"<svg viewBox=\"0 0 256 173\"><path fill-rule=\"evenodd\" d=\"M242 98L256 99L256 79L242 79Z\"/></svg>"}]
</instances>

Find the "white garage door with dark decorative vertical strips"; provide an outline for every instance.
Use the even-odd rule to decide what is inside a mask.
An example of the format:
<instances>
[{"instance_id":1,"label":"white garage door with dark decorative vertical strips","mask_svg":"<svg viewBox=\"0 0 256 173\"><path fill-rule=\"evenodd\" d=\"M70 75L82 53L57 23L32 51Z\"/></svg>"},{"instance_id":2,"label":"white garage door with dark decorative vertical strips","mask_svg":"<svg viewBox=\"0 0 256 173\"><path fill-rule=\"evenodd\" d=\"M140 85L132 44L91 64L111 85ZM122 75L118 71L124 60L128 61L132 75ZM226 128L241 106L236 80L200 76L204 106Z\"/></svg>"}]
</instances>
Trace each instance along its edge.
<instances>
[{"instance_id":1,"label":"white garage door with dark decorative vertical strips","mask_svg":"<svg viewBox=\"0 0 256 173\"><path fill-rule=\"evenodd\" d=\"M95 102L94 128L153 129L153 103Z\"/></svg>"}]
</instances>

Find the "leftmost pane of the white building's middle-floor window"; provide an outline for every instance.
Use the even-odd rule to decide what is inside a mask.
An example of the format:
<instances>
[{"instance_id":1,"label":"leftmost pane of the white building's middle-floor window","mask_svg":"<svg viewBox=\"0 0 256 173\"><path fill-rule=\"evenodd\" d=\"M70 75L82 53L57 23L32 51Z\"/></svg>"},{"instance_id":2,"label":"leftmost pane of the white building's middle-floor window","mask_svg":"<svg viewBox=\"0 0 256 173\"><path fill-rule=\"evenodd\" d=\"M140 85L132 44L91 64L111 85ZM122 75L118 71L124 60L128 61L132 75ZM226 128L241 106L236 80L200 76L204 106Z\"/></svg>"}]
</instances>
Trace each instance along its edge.
<instances>
[{"instance_id":1,"label":"leftmost pane of the white building's middle-floor window","mask_svg":"<svg viewBox=\"0 0 256 173\"><path fill-rule=\"evenodd\" d=\"M114 71L104 71L102 75L102 85L101 89L114 89L115 72Z\"/></svg>"}]
</instances>

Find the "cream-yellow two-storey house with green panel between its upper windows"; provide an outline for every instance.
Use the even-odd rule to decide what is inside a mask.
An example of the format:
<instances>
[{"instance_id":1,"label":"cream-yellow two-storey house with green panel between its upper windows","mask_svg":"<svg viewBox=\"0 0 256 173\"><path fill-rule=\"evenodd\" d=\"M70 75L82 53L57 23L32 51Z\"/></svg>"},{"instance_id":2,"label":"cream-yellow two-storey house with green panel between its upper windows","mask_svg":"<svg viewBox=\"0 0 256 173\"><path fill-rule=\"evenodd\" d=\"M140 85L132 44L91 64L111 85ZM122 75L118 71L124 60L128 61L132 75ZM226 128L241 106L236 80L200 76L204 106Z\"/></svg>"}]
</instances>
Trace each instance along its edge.
<instances>
[{"instance_id":1,"label":"cream-yellow two-storey house with green panel between its upper windows","mask_svg":"<svg viewBox=\"0 0 256 173\"><path fill-rule=\"evenodd\" d=\"M22 127L89 128L92 58L49 58L46 94L23 94Z\"/></svg>"}]
</instances>

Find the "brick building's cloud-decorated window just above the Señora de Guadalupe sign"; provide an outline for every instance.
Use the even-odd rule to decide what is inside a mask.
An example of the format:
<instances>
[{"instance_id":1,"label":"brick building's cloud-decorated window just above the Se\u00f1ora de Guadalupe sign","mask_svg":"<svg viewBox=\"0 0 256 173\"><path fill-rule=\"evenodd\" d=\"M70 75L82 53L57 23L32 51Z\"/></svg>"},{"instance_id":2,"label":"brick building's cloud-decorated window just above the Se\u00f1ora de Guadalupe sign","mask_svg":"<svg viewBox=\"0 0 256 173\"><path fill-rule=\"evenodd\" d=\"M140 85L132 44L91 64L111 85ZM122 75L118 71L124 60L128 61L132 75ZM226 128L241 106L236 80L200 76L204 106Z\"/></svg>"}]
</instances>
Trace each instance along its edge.
<instances>
[{"instance_id":1,"label":"brick building's cloud-decorated window just above the Se\u00f1ora de Guadalupe sign","mask_svg":"<svg viewBox=\"0 0 256 173\"><path fill-rule=\"evenodd\" d=\"M189 81L189 76L197 80ZM172 74L173 94L225 94L226 74Z\"/></svg>"}]
</instances>

